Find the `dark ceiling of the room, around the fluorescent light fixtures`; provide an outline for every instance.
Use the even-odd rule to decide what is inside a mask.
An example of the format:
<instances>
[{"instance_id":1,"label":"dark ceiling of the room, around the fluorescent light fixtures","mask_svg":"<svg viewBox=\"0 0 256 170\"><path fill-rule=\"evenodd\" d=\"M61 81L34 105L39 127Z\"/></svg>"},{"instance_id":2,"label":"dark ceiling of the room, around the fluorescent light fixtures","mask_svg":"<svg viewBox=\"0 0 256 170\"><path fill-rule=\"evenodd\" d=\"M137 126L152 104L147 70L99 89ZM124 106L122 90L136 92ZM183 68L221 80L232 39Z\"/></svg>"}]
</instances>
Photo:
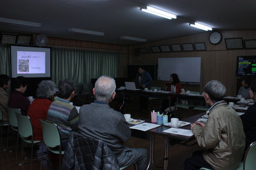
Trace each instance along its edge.
<instances>
[{"instance_id":1,"label":"dark ceiling of the room, around the fluorescent light fixtures","mask_svg":"<svg viewBox=\"0 0 256 170\"><path fill-rule=\"evenodd\" d=\"M146 4L178 17L168 20L139 10ZM255 6L255 0L0 0L0 17L41 23L39 28L0 23L0 32L134 45L141 42L120 36L153 42L205 32L189 22L201 22L213 30L256 29ZM69 33L69 28L105 36Z\"/></svg>"}]
</instances>

